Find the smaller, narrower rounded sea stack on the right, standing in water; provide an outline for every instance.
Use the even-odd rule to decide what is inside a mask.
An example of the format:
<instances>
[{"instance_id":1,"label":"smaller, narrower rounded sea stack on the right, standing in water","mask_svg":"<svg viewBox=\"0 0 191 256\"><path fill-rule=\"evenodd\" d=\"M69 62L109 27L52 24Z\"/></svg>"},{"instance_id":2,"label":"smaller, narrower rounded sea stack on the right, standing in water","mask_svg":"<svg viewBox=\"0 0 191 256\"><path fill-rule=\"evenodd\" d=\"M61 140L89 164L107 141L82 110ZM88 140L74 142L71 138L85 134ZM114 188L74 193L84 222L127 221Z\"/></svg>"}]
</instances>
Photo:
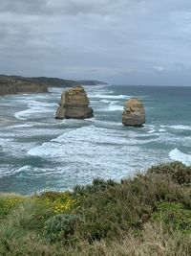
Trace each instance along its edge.
<instances>
[{"instance_id":1,"label":"smaller, narrower rounded sea stack on the right, standing in water","mask_svg":"<svg viewBox=\"0 0 191 256\"><path fill-rule=\"evenodd\" d=\"M141 127L145 123L144 105L138 98L131 98L124 105L122 124L129 127Z\"/></svg>"}]
</instances>

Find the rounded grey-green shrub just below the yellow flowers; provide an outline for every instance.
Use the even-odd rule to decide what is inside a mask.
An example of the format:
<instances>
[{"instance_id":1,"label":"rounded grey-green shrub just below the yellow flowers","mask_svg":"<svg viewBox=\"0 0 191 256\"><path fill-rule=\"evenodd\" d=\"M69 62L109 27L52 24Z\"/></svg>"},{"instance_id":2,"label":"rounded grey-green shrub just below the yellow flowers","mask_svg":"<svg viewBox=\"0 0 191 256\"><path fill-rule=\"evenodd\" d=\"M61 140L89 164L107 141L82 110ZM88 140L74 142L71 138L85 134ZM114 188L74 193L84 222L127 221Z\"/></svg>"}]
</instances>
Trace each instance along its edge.
<instances>
[{"instance_id":1,"label":"rounded grey-green shrub just below the yellow flowers","mask_svg":"<svg viewBox=\"0 0 191 256\"><path fill-rule=\"evenodd\" d=\"M48 240L53 242L61 241L66 244L74 235L74 229L79 217L70 214L59 214L46 221L45 234Z\"/></svg>"}]
</instances>

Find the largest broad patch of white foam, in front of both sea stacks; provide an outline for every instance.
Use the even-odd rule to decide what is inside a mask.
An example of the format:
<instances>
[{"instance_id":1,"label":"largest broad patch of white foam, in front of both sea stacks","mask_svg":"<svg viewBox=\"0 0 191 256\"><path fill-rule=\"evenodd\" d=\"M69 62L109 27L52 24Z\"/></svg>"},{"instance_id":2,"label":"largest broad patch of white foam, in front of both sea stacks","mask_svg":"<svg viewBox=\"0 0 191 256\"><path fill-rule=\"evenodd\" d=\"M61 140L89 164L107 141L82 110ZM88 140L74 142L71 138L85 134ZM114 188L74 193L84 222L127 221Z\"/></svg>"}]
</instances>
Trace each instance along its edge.
<instances>
[{"instance_id":1,"label":"largest broad patch of white foam, in front of both sea stacks","mask_svg":"<svg viewBox=\"0 0 191 256\"><path fill-rule=\"evenodd\" d=\"M53 174L60 172L67 180L68 175L72 179L77 175L79 183L81 179L91 181L94 176L121 178L135 171L135 163L136 168L142 169L145 165L140 159L145 158L146 152L138 146L149 141L152 140L131 138L127 130L89 126L64 130L61 136L32 148L28 155L59 163L61 168L55 166ZM154 154L150 156L154 158Z\"/></svg>"}]
</instances>

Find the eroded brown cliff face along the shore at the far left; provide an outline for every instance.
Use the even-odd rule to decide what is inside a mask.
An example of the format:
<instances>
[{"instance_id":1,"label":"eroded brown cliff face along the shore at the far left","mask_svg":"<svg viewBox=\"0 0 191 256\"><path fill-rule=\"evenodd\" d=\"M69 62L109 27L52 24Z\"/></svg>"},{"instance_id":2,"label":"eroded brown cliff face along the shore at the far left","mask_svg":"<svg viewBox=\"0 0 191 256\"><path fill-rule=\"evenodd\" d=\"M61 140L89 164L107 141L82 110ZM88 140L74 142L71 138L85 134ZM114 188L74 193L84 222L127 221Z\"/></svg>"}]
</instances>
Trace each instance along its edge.
<instances>
[{"instance_id":1,"label":"eroded brown cliff face along the shore at the far left","mask_svg":"<svg viewBox=\"0 0 191 256\"><path fill-rule=\"evenodd\" d=\"M0 80L0 95L48 92L48 86L20 80Z\"/></svg>"}]
</instances>

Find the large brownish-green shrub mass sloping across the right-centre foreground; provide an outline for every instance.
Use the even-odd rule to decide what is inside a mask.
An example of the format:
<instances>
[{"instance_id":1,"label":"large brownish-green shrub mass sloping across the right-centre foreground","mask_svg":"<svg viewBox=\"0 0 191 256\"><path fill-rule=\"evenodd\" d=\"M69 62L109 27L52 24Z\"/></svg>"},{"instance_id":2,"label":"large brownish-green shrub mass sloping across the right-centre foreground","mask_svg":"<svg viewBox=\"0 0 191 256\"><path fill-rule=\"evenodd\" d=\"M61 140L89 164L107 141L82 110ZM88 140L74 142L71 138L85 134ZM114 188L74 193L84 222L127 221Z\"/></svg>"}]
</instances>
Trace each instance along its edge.
<instances>
[{"instance_id":1,"label":"large brownish-green shrub mass sloping across the right-centre foreground","mask_svg":"<svg viewBox=\"0 0 191 256\"><path fill-rule=\"evenodd\" d=\"M90 242L112 239L129 229L139 232L161 199L190 203L190 198L178 185L160 175L139 175L94 195L91 191L79 210L84 221L77 227L77 232Z\"/></svg>"}]
</instances>

